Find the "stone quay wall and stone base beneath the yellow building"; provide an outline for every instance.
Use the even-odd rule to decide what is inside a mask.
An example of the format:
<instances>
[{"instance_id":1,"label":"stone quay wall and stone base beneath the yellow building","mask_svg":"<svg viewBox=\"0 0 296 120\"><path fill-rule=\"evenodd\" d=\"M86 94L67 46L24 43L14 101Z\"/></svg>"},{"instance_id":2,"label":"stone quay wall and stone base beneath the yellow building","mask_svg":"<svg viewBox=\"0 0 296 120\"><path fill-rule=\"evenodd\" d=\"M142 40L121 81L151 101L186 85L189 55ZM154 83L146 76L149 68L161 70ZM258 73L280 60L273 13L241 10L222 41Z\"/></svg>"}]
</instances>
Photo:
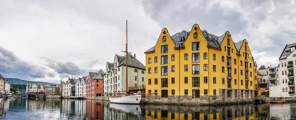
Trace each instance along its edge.
<instances>
[{"instance_id":1,"label":"stone quay wall and stone base beneath the yellow building","mask_svg":"<svg viewBox=\"0 0 296 120\"><path fill-rule=\"evenodd\" d=\"M249 90L249 95L246 97L246 92L241 89L236 90L231 89L231 97L227 96L227 89L225 94L222 94L222 89L219 91L219 95L200 95L199 98L192 98L191 95L171 95L168 97L161 97L161 95L147 95L144 98L144 104L167 104L167 105L225 105L225 104L245 104L245 103L254 103L255 102L255 92L254 90ZM252 91L252 92L251 92Z\"/></svg>"}]
</instances>

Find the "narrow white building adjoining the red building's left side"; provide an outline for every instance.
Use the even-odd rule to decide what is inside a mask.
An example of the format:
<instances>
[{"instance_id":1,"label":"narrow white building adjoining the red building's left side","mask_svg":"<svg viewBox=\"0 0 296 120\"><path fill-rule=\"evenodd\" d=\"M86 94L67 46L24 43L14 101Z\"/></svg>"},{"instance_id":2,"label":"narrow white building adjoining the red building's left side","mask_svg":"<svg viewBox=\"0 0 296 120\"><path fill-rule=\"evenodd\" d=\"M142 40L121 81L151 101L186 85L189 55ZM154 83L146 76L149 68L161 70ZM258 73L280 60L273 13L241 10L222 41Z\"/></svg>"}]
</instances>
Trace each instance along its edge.
<instances>
[{"instance_id":1,"label":"narrow white building adjoining the red building's left side","mask_svg":"<svg viewBox=\"0 0 296 120\"><path fill-rule=\"evenodd\" d=\"M75 82L76 97L85 97L85 80L87 80L87 76L78 78L78 80Z\"/></svg>"}]
</instances>

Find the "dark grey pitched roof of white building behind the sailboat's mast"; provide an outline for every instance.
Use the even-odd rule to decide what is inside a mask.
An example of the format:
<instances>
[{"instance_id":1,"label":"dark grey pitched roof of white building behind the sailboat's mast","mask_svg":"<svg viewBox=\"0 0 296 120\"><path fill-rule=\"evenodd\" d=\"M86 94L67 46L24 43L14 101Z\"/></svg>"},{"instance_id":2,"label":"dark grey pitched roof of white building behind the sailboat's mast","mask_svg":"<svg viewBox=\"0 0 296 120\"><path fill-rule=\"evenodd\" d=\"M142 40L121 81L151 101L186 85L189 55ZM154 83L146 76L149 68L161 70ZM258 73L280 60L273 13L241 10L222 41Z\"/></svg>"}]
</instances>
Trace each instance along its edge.
<instances>
[{"instance_id":1,"label":"dark grey pitched roof of white building behind the sailboat's mast","mask_svg":"<svg viewBox=\"0 0 296 120\"><path fill-rule=\"evenodd\" d=\"M134 67L134 68L138 68L138 69L142 69L142 70L145 70L146 69L146 67L145 67L145 65L143 65L138 59L136 59L132 54L128 54L128 57L127 57L127 65L129 66L129 67ZM126 65L126 58L124 57L124 60L122 60L120 63L119 63L119 65L118 65L118 67L119 66L122 66L122 65Z\"/></svg>"}]
</instances>

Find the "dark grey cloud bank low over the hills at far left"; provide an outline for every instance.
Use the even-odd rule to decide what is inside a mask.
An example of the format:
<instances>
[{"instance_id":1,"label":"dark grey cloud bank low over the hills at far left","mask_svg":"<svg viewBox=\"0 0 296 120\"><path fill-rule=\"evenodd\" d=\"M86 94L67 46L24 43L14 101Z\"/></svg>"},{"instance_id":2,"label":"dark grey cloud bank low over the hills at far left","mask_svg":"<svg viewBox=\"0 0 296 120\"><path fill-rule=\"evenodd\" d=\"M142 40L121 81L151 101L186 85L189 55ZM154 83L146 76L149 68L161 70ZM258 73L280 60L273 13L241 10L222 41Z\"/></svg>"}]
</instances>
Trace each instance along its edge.
<instances>
[{"instance_id":1,"label":"dark grey cloud bank low over the hills at far left","mask_svg":"<svg viewBox=\"0 0 296 120\"><path fill-rule=\"evenodd\" d=\"M0 72L6 75L28 76L33 79L54 77L54 74L47 72L45 67L25 62L2 46L0 46Z\"/></svg>"}]
</instances>

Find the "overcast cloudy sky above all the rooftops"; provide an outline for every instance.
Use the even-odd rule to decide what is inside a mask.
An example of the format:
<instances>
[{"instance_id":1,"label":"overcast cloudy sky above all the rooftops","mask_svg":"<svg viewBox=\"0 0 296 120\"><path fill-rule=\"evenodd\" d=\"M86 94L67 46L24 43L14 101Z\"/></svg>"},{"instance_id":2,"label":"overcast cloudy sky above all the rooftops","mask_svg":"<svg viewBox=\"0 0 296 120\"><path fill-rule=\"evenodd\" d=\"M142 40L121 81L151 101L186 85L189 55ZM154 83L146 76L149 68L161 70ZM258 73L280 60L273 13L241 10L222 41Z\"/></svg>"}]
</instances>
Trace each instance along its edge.
<instances>
[{"instance_id":1,"label":"overcast cloudy sky above all the rooftops","mask_svg":"<svg viewBox=\"0 0 296 120\"><path fill-rule=\"evenodd\" d=\"M124 1L124 2L123 2ZM105 69L129 51L145 63L162 28L171 35L201 30L235 42L249 41L258 65L278 64L296 41L294 0L1 0L0 74L5 78L58 83L61 78Z\"/></svg>"}]
</instances>

